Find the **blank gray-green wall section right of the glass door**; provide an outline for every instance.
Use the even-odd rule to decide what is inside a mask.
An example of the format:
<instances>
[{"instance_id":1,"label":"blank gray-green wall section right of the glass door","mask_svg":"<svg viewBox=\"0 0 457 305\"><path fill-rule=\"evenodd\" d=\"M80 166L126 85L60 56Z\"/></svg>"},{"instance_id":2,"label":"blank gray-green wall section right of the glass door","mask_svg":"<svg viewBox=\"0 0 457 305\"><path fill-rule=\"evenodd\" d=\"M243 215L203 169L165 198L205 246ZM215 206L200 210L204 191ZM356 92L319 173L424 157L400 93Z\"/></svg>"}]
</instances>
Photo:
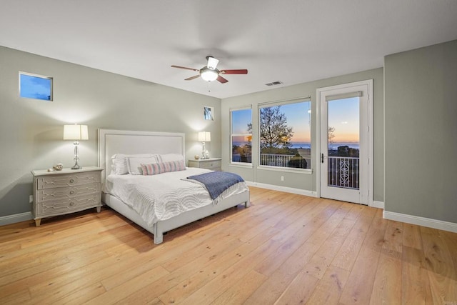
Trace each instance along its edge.
<instances>
[{"instance_id":1,"label":"blank gray-green wall section right of the glass door","mask_svg":"<svg viewBox=\"0 0 457 305\"><path fill-rule=\"evenodd\" d=\"M384 66L385 209L457 223L457 40Z\"/></svg>"}]
</instances>

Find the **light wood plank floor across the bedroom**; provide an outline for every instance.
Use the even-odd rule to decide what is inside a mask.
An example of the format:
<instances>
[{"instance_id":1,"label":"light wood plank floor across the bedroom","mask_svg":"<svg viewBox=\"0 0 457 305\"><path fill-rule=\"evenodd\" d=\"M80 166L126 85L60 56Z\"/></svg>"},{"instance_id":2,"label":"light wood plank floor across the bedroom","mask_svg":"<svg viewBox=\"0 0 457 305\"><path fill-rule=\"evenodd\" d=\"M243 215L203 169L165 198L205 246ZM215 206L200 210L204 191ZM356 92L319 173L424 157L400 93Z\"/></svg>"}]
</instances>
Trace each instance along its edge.
<instances>
[{"instance_id":1,"label":"light wood plank floor across the bedroom","mask_svg":"<svg viewBox=\"0 0 457 305\"><path fill-rule=\"evenodd\" d=\"M0 304L457 304L457 234L251 188L151 234L108 208L0 227Z\"/></svg>"}]
</instances>

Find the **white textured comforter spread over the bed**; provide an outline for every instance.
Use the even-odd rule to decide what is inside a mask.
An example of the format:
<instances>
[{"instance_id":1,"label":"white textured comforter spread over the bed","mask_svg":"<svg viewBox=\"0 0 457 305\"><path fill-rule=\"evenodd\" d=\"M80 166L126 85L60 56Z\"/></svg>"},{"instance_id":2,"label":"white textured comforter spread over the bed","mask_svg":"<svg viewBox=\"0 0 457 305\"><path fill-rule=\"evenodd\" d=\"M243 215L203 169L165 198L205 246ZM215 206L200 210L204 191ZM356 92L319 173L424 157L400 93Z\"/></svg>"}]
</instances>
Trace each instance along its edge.
<instances>
[{"instance_id":1,"label":"white textured comforter spread over the bed","mask_svg":"<svg viewBox=\"0 0 457 305\"><path fill-rule=\"evenodd\" d=\"M203 185L185 180L188 176L205 172L209 170L187 168L186 171L153 176L109 175L106 178L104 192L131 206L149 226L152 226L157 221L170 219L201 206L216 204L221 199L248 190L245 182L238 183L213 201Z\"/></svg>"}]
</instances>

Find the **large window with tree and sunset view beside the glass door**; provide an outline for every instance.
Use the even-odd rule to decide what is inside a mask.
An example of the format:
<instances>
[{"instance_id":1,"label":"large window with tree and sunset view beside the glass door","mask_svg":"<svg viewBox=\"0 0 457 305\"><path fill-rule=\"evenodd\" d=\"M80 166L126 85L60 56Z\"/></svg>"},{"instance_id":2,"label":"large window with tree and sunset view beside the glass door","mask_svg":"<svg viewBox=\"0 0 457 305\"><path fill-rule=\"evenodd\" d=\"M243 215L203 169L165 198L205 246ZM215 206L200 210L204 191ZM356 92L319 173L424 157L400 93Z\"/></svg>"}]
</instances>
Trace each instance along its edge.
<instances>
[{"instance_id":1,"label":"large window with tree and sunset view beside the glass door","mask_svg":"<svg viewBox=\"0 0 457 305\"><path fill-rule=\"evenodd\" d=\"M259 165L311 169L311 101L262 104Z\"/></svg>"}]
</instances>

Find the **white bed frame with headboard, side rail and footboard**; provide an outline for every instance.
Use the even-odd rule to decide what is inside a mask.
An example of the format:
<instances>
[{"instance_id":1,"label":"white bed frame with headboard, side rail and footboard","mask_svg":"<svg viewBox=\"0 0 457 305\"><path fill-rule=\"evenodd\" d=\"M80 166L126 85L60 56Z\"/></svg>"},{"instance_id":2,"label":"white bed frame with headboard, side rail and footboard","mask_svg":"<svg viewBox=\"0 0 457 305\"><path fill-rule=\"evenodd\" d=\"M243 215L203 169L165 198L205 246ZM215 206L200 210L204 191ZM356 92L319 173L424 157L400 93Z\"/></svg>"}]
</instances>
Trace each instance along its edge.
<instances>
[{"instance_id":1,"label":"white bed frame with headboard, side rail and footboard","mask_svg":"<svg viewBox=\"0 0 457 305\"><path fill-rule=\"evenodd\" d=\"M185 135L181 133L151 132L151 131L125 131L99 129L99 166L102 171L102 181L111 172L111 156L114 154L181 154L186 156ZM154 234L154 244L164 241L164 233L179 226L184 226L193 221L205 218L220 211L224 211L238 204L250 206L249 191L230 196L218 202L199 209L186 211L165 221L158 221L154 226L149 226L141 219L134 209L124 204L115 196L102 193L101 201L115 211L134 221Z\"/></svg>"}]
</instances>

